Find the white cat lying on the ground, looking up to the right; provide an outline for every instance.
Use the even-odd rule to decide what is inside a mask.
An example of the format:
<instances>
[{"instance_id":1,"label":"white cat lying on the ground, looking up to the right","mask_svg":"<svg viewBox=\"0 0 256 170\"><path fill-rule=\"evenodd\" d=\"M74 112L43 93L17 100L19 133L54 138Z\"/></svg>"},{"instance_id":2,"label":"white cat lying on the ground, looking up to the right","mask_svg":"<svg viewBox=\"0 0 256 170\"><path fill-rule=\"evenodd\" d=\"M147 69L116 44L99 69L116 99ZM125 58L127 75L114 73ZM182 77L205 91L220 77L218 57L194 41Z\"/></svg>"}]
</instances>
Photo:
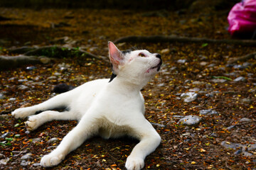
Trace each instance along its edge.
<instances>
[{"instance_id":1,"label":"white cat lying on the ground, looking up to the right","mask_svg":"<svg viewBox=\"0 0 256 170\"><path fill-rule=\"evenodd\" d=\"M12 113L15 118L31 115L26 122L28 130L36 130L50 120L79 120L60 145L41 159L41 166L59 164L93 135L105 139L123 135L137 138L140 142L125 164L129 170L142 169L145 157L159 146L161 137L144 118L144 98L140 90L159 72L161 56L147 50L121 52L113 42L108 45L112 79L89 81L36 106L18 108ZM63 106L68 111L49 111ZM37 111L43 112L33 115Z\"/></svg>"}]
</instances>

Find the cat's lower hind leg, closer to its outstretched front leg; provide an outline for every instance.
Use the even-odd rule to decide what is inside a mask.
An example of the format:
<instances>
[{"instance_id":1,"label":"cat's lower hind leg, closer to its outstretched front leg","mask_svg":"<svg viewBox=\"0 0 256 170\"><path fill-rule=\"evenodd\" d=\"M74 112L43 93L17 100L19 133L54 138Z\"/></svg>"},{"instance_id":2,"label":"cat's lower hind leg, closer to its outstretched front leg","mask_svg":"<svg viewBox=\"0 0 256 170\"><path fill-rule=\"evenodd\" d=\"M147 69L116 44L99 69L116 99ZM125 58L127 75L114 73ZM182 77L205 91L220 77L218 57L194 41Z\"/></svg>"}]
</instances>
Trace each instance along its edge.
<instances>
[{"instance_id":1,"label":"cat's lower hind leg, closer to its outstretched front leg","mask_svg":"<svg viewBox=\"0 0 256 170\"><path fill-rule=\"evenodd\" d=\"M79 120L78 116L75 115L72 111L44 111L38 115L31 115L26 121L26 128L29 131L36 130L43 123L52 121L52 120Z\"/></svg>"}]
</instances>

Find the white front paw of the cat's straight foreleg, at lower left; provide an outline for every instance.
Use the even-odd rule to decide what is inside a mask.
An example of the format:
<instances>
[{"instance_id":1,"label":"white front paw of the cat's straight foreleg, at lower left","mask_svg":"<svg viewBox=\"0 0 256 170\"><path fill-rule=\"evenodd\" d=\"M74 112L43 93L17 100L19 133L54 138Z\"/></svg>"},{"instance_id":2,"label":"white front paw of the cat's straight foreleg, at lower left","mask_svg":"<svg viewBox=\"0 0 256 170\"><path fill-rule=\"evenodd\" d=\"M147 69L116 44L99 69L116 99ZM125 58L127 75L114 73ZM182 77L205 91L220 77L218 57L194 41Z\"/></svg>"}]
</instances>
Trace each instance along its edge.
<instances>
[{"instance_id":1,"label":"white front paw of the cat's straight foreleg, at lower left","mask_svg":"<svg viewBox=\"0 0 256 170\"><path fill-rule=\"evenodd\" d=\"M64 159L63 154L57 155L57 154L46 154L41 159L41 166L43 167L50 167L60 164L60 162Z\"/></svg>"}]
</instances>

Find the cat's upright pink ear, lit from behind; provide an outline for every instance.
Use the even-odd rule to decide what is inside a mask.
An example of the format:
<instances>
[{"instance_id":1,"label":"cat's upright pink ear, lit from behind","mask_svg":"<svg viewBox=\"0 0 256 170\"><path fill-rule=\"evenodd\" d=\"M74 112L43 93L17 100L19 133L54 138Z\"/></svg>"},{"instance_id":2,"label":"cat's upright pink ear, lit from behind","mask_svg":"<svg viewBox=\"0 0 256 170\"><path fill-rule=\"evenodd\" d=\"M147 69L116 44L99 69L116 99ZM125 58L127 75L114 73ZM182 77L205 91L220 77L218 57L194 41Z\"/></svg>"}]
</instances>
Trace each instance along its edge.
<instances>
[{"instance_id":1,"label":"cat's upright pink ear, lit from behind","mask_svg":"<svg viewBox=\"0 0 256 170\"><path fill-rule=\"evenodd\" d=\"M114 72L117 74L119 65L124 64L124 55L122 55L122 52L118 50L118 48L114 45L113 42L109 41L108 46L110 52L110 62L112 64Z\"/></svg>"}]
</instances>

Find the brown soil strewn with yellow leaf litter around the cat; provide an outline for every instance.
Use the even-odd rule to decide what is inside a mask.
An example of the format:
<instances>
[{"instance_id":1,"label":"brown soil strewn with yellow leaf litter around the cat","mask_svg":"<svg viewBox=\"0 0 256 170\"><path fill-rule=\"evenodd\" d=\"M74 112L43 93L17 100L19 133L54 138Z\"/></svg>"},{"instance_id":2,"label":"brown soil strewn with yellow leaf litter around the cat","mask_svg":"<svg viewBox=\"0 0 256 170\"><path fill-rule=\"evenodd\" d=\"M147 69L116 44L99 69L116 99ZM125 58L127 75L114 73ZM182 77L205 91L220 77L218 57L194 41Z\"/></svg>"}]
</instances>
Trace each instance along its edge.
<instances>
[{"instance_id":1,"label":"brown soil strewn with yellow leaf litter around the cat","mask_svg":"<svg viewBox=\"0 0 256 170\"><path fill-rule=\"evenodd\" d=\"M227 13L178 13L146 16L146 11L96 9L0 8L0 45L3 55L9 47L65 44L80 47L94 55L107 56L107 41L127 35L181 35L211 39L231 39L226 28ZM68 36L69 42L57 39ZM232 57L255 52L255 47L201 43L122 43L120 50L146 49L161 54L161 72L142 90L146 119L154 123L161 135L161 145L145 159L144 169L256 169L256 150L223 147L221 142L250 147L256 143L256 69L255 59L237 63L246 68L227 65ZM166 50L168 49L168 50ZM14 55L14 54L9 54ZM179 63L178 60L186 60ZM60 69L63 64L65 69ZM68 64L68 65L67 65ZM33 66L33 69L26 67ZM26 65L1 71L0 159L9 159L1 169L43 169L38 163L77 124L76 121L53 121L27 133L24 120L16 120L11 111L46 101L55 85L72 86L110 77L110 64L80 57L62 58L48 64ZM225 82L213 82L215 78ZM244 77L245 81L233 81ZM203 83L196 85L195 81ZM20 85L27 88L22 89ZM199 88L195 101L186 103L182 93ZM216 115L200 115L201 110L215 110ZM198 115L198 125L183 126L177 115ZM250 122L242 122L249 118ZM229 128L234 125L233 128ZM58 141L48 140L57 137ZM124 164L137 140L102 140L93 137L68 154L51 169L125 169ZM246 147L244 148L246 150ZM28 159L21 157L30 153Z\"/></svg>"}]
</instances>

